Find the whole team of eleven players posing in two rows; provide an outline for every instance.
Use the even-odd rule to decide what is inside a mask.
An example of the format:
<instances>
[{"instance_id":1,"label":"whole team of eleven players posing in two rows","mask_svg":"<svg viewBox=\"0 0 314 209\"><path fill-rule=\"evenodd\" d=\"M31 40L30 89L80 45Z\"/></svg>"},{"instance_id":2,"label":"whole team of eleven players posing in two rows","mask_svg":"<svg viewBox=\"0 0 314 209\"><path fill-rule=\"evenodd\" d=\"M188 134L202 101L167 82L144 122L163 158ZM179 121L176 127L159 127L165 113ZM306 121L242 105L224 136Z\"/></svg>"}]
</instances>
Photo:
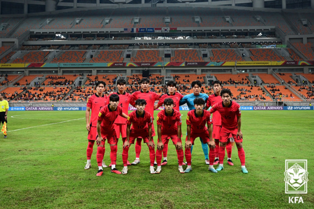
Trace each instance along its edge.
<instances>
[{"instance_id":1,"label":"whole team of eleven players posing in two rows","mask_svg":"<svg viewBox=\"0 0 314 209\"><path fill-rule=\"evenodd\" d=\"M104 162L105 140L107 140L110 146L110 172L127 174L129 165L140 163L139 157L143 140L149 148L150 173L160 173L161 165L167 164L168 143L171 139L178 155L179 172L189 173L192 171L191 153L194 141L199 138L205 156L205 164L209 165L209 171L217 173L224 169L226 147L227 162L229 165L234 165L231 160L231 152L232 144L235 143L241 162L241 171L248 173L242 147L241 109L239 104L231 100L231 91L222 89L220 81L213 82L214 94L211 95L200 93L202 83L198 80L193 81L191 83L193 93L185 96L176 92L176 82L174 81L167 82L168 93L161 96L149 91L149 78L144 77L139 83L141 90L129 94L126 92L126 81L119 79L117 80L118 92L110 93L108 96L103 93L105 82L96 83L96 93L88 97L85 114L88 131L85 169L91 168L91 156L96 141L98 164L96 176L103 175L103 168L107 167ZM155 101L158 101L156 105ZM129 104L136 108L130 114ZM186 116L185 145L182 143L184 134L182 133L182 124L185 124L184 121L182 122L179 109L183 104L187 104L190 110ZM164 109L157 114L157 150L155 152L154 110L162 105ZM122 172L116 168L117 142L120 134L123 141ZM134 162L130 163L128 161L129 148L134 142L136 158ZM161 163L162 155L163 162ZM185 156L186 163L183 163L183 156ZM218 163L219 165L215 169L213 165ZM154 164L157 164L156 170ZM185 170L183 165L187 165Z\"/></svg>"}]
</instances>

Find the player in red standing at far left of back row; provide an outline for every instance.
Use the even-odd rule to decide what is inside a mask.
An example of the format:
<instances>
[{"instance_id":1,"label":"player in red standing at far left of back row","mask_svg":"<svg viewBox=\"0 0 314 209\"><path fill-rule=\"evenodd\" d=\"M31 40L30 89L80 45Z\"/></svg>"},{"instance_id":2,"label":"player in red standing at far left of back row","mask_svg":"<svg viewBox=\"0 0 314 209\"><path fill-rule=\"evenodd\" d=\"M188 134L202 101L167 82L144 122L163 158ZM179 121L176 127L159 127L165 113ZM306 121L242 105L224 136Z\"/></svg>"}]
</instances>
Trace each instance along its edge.
<instances>
[{"instance_id":1,"label":"player in red standing at far left of back row","mask_svg":"<svg viewBox=\"0 0 314 209\"><path fill-rule=\"evenodd\" d=\"M96 83L96 93L91 95L87 100L87 107L85 112L86 118L86 129L88 131L88 145L86 149L87 163L85 169L91 167L91 157L93 153L94 143L97 137L97 120L99 111L108 104L108 97L104 94L105 82L99 81ZM92 113L90 114L90 111ZM91 115L91 116L90 116ZM90 119L89 119L90 116ZM105 146L103 150L105 154ZM105 162L103 162L103 167L107 167Z\"/></svg>"}]
</instances>

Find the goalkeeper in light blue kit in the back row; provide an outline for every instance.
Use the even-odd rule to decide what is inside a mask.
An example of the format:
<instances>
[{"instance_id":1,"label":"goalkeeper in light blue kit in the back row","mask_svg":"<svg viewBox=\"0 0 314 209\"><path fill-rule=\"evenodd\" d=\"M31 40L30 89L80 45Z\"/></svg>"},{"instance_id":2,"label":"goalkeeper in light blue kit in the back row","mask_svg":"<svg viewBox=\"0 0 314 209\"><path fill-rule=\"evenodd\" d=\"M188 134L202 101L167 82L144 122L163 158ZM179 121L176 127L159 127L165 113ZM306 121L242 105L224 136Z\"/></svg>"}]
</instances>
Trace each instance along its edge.
<instances>
[{"instance_id":1,"label":"goalkeeper in light blue kit in the back row","mask_svg":"<svg viewBox=\"0 0 314 209\"><path fill-rule=\"evenodd\" d=\"M202 83L201 81L193 81L191 83L191 87L193 89L193 93L190 93L190 94L187 94L185 95L182 100L180 101L180 105L183 105L183 104L187 104L189 110L194 110L195 107L194 107L194 99L195 98L203 98L205 100L205 102L207 101L208 99L208 95L206 93L200 93L201 92L201 88L202 88ZM201 140L201 143L202 143L202 149L203 149L203 152L204 152L204 156L205 156L205 163L206 164L209 164L209 159L208 159L208 145L207 143L204 143L203 142L203 139L200 138ZM191 147L191 152L193 150L193 146Z\"/></svg>"}]
</instances>

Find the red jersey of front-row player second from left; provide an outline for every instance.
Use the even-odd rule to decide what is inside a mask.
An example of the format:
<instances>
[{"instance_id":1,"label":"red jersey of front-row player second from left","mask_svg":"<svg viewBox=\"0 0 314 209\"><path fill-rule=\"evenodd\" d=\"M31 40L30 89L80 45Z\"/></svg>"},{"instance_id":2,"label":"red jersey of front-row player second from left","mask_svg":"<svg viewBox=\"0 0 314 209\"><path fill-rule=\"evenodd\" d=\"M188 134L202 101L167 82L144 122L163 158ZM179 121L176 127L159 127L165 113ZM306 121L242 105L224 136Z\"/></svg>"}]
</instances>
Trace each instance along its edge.
<instances>
[{"instance_id":1,"label":"red jersey of front-row player second from left","mask_svg":"<svg viewBox=\"0 0 314 209\"><path fill-rule=\"evenodd\" d=\"M134 132L142 132L143 129L148 129L149 125L153 125L153 117L149 112L144 110L143 115L139 116L137 111L133 111L130 113L127 124L131 125L131 130Z\"/></svg>"}]
</instances>

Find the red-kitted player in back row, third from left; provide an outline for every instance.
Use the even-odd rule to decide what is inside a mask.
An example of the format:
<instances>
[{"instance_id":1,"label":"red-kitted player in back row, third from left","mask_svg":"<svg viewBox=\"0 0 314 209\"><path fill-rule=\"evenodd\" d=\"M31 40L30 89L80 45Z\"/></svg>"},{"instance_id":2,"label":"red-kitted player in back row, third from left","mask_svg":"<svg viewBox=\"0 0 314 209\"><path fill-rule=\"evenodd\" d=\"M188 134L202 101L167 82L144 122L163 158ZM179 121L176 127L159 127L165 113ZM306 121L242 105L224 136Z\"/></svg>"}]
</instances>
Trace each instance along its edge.
<instances>
[{"instance_id":1,"label":"red-kitted player in back row, third from left","mask_svg":"<svg viewBox=\"0 0 314 209\"><path fill-rule=\"evenodd\" d=\"M151 116L154 117L154 104L156 100L159 100L160 95L155 92L149 91L149 84L150 84L150 80L148 78L142 78L140 81L141 91L132 93L130 103L132 106L134 106L134 102L137 99L144 99L147 103L147 105L145 105L145 111L150 113ZM152 131L153 131L152 137L154 137L156 135L154 124L152 124ZM141 138L136 139L136 143L135 143L135 154L136 154L135 157L136 158L134 162L131 163L132 165L140 163L139 156L140 156L141 148L142 148L141 143L142 143Z\"/></svg>"}]
</instances>

